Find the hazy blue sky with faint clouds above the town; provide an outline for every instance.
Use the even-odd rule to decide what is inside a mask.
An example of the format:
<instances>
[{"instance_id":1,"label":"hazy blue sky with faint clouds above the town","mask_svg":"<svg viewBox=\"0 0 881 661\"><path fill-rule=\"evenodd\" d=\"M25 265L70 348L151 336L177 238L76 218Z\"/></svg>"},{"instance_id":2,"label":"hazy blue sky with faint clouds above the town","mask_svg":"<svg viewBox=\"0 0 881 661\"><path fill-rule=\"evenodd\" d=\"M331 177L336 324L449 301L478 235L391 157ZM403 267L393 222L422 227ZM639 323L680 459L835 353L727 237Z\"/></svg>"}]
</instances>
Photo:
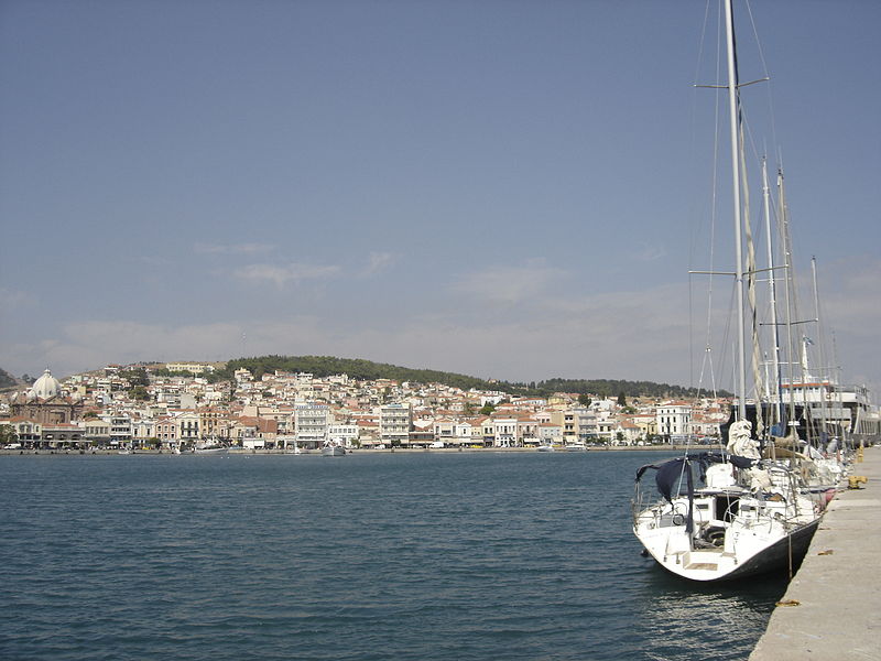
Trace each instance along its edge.
<instances>
[{"instance_id":1,"label":"hazy blue sky with faint clouds above the town","mask_svg":"<svg viewBox=\"0 0 881 661\"><path fill-rule=\"evenodd\" d=\"M879 383L881 3L753 4L772 83L744 97L774 110L755 139L783 153L800 275L816 254L845 378ZM273 353L695 382L706 11L0 2L0 367Z\"/></svg>"}]
</instances>

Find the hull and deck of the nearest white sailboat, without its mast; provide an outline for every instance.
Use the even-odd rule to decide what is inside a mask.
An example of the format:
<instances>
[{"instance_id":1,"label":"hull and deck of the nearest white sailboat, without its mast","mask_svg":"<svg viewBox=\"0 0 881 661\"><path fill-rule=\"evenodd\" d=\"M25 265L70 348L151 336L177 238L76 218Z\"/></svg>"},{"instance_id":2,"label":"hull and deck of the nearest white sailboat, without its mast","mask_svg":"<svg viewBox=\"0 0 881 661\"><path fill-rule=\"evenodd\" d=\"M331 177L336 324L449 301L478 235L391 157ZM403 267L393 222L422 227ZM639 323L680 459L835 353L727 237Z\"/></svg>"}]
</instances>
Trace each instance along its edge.
<instances>
[{"instance_id":1,"label":"hull and deck of the nearest white sailboat, without its mast","mask_svg":"<svg viewBox=\"0 0 881 661\"><path fill-rule=\"evenodd\" d=\"M749 434L749 422L737 424ZM650 469L656 472L657 500L642 488ZM826 502L786 463L757 453L686 454L639 469L633 532L663 568L684 578L718 582L792 572Z\"/></svg>"}]
</instances>

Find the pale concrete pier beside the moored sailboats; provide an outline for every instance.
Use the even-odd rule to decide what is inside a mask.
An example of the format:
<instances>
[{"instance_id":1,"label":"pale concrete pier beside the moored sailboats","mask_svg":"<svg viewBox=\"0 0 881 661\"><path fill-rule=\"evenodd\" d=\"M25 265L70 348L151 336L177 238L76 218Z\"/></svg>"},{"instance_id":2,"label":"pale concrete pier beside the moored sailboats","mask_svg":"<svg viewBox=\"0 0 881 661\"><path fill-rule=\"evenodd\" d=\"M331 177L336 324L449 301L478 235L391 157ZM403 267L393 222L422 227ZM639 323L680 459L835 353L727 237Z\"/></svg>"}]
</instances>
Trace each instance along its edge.
<instances>
[{"instance_id":1,"label":"pale concrete pier beside the moored sailboats","mask_svg":"<svg viewBox=\"0 0 881 661\"><path fill-rule=\"evenodd\" d=\"M750 661L881 659L881 448L867 448L839 491Z\"/></svg>"}]
</instances>

